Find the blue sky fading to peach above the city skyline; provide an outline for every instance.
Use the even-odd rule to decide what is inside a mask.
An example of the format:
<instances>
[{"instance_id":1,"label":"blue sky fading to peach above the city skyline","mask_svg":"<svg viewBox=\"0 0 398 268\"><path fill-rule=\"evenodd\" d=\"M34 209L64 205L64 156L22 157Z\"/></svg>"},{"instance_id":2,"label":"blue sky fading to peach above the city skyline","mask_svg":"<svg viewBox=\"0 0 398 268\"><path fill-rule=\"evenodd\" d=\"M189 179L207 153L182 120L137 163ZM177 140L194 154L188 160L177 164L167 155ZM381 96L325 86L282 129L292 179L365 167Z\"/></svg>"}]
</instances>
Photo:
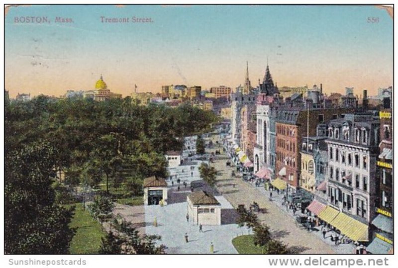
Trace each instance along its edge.
<instances>
[{"instance_id":1,"label":"blue sky fading to peach above the city skyline","mask_svg":"<svg viewBox=\"0 0 398 268\"><path fill-rule=\"evenodd\" d=\"M26 16L50 22L16 22ZM268 61L278 87L322 83L326 93L374 95L393 85L393 19L365 5L33 5L11 7L5 18L10 97L94 89L101 74L123 96L134 85L234 89L244 84L246 61L252 86Z\"/></svg>"}]
</instances>

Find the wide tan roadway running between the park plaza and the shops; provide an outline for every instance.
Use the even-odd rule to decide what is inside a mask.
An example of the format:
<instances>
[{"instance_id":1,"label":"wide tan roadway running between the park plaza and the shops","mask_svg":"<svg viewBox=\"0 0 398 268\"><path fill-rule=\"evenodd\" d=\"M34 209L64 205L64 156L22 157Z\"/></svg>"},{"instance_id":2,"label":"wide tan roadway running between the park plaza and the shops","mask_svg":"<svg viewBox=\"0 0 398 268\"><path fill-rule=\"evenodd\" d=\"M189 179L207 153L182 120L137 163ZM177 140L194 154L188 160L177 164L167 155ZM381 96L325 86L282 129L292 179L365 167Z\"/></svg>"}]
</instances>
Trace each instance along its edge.
<instances>
[{"instance_id":1,"label":"wide tan roadway running between the park plaza and the shops","mask_svg":"<svg viewBox=\"0 0 398 268\"><path fill-rule=\"evenodd\" d=\"M221 143L218 135L213 136L212 139ZM224 153L223 156L226 154ZM270 202L263 193L244 182L240 177L232 178L233 168L227 167L226 162L227 160L215 160L211 166L219 171L217 190L233 207L237 208L238 204L244 204L248 208L253 201L256 201L261 209L266 209L266 213L258 214L259 220L267 224L274 237L286 243L296 254L336 254L331 246L296 226L294 220Z\"/></svg>"}]
</instances>

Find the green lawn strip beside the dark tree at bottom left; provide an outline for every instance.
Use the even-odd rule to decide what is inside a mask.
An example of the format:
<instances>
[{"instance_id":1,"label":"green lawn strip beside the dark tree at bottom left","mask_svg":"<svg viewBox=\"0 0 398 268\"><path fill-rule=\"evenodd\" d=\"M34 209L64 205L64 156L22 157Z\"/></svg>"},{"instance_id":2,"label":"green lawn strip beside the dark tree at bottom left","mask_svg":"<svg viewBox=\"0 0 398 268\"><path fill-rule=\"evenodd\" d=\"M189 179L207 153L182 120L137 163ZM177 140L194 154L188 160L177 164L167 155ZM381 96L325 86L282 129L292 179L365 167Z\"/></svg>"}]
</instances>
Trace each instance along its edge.
<instances>
[{"instance_id":1,"label":"green lawn strip beside the dark tree at bottom left","mask_svg":"<svg viewBox=\"0 0 398 268\"><path fill-rule=\"evenodd\" d=\"M89 211L83 210L83 205L77 203L75 215L70 227L77 227L72 239L71 254L98 254L101 246L101 237L105 235L101 224L94 220Z\"/></svg>"}]
</instances>

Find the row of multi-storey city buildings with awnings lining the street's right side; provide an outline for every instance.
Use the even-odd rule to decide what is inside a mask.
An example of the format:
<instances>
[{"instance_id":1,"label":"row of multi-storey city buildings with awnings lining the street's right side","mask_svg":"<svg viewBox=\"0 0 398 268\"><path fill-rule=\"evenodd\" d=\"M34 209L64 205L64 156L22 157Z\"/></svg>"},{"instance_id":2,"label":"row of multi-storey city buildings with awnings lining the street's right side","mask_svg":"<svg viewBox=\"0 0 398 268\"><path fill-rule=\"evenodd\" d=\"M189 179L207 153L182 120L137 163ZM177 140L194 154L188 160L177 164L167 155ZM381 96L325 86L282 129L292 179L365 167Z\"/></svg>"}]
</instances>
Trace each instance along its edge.
<instances>
[{"instance_id":1,"label":"row of multi-storey city buildings with awnings lining the street's right side","mask_svg":"<svg viewBox=\"0 0 398 268\"><path fill-rule=\"evenodd\" d=\"M393 244L391 90L379 90L376 106L366 90L361 99L352 88L338 98L323 94L322 85L295 90L278 89L268 66L254 89L247 72L231 96L228 142L236 159L288 195L304 191L311 207L328 208L320 217L326 224L387 253Z\"/></svg>"}]
</instances>

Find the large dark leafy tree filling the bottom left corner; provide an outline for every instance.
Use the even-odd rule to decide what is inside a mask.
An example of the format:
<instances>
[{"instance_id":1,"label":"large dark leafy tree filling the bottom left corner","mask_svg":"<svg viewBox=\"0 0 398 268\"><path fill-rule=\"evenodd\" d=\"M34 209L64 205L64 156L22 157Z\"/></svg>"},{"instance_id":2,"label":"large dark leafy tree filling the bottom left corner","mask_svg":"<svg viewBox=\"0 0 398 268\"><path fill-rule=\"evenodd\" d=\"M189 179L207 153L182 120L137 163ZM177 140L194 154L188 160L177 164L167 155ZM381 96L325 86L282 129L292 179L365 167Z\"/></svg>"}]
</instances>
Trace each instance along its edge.
<instances>
[{"instance_id":1,"label":"large dark leafy tree filling the bottom left corner","mask_svg":"<svg viewBox=\"0 0 398 268\"><path fill-rule=\"evenodd\" d=\"M74 208L55 201L54 148L34 143L5 154L4 251L68 254Z\"/></svg>"}]
</instances>

